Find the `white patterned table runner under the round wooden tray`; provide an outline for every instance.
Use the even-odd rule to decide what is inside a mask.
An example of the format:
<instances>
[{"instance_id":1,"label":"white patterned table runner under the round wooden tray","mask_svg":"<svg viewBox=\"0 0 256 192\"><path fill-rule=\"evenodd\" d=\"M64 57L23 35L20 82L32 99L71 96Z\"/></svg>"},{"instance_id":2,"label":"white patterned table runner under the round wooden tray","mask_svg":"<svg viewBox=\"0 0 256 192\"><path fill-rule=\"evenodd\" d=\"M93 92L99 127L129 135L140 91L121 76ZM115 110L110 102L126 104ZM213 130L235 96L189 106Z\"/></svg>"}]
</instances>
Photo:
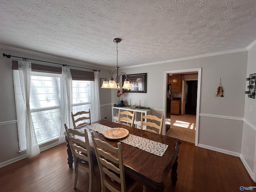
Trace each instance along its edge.
<instances>
[{"instance_id":1,"label":"white patterned table runner under the round wooden tray","mask_svg":"<svg viewBox=\"0 0 256 192\"><path fill-rule=\"evenodd\" d=\"M98 123L88 125L88 126L86 126L86 128L96 131L101 134L104 134L104 132L106 130L111 129L111 127L108 127L108 126L105 126L102 124L98 124ZM137 147L141 150L155 154L160 157L162 157L164 155L164 152L168 148L168 145L166 145L166 144L152 141L152 140L149 140L149 139L146 139L146 138L143 138L140 136L132 135L132 134L129 134L126 138L120 139L118 141L121 141L125 144Z\"/></svg>"}]
</instances>

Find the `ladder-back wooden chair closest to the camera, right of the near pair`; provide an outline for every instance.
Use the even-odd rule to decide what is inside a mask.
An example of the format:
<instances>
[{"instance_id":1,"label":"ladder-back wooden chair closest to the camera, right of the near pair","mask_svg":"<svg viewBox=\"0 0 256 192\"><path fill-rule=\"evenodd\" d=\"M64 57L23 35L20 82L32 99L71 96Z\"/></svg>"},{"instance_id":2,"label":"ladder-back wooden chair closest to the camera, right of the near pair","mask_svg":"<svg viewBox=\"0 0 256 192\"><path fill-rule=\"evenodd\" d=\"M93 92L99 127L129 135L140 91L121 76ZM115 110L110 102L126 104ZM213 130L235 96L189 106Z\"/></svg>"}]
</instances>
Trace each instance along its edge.
<instances>
[{"instance_id":1,"label":"ladder-back wooden chair closest to the camera, right of the near pair","mask_svg":"<svg viewBox=\"0 0 256 192\"><path fill-rule=\"evenodd\" d=\"M121 143L116 148L91 134L100 168L101 191L105 192L107 187L111 192L131 192L138 182L124 174Z\"/></svg>"}]
</instances>

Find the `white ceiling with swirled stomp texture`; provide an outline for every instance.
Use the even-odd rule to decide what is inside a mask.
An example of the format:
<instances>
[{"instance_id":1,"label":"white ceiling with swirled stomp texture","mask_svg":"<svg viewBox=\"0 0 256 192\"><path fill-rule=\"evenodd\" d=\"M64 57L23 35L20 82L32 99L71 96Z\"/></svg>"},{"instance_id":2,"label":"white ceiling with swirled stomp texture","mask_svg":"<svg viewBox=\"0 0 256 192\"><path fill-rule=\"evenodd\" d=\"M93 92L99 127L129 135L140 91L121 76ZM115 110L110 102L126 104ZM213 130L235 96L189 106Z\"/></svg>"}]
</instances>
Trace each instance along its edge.
<instances>
[{"instance_id":1,"label":"white ceiling with swirled stomp texture","mask_svg":"<svg viewBox=\"0 0 256 192\"><path fill-rule=\"evenodd\" d=\"M0 44L104 66L242 49L256 0L0 0ZM6 54L8 54L6 52Z\"/></svg>"}]
</instances>

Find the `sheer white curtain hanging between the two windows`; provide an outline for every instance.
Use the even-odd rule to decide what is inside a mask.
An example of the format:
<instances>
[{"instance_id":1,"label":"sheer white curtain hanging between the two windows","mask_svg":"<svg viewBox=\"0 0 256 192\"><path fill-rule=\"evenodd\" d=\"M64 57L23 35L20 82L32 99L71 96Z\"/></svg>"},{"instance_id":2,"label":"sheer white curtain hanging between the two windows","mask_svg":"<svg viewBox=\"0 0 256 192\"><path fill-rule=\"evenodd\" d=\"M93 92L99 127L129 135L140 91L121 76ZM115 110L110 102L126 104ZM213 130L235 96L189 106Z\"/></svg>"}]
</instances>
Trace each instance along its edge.
<instances>
[{"instance_id":1,"label":"sheer white curtain hanging between the two windows","mask_svg":"<svg viewBox=\"0 0 256 192\"><path fill-rule=\"evenodd\" d=\"M65 142L63 135L66 123L68 128L71 128L72 119L72 76L68 66L62 66L62 74L60 78L60 95L61 95L61 125L59 143Z\"/></svg>"}]
</instances>

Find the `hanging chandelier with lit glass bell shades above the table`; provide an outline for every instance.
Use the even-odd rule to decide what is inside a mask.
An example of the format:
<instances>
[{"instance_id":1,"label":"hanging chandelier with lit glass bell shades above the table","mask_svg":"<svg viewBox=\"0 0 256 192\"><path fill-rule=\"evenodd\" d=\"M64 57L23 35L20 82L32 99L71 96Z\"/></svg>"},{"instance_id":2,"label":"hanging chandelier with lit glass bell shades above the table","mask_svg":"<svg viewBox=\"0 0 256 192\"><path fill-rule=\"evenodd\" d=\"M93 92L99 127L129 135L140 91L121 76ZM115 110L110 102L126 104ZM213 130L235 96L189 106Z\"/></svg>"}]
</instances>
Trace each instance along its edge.
<instances>
[{"instance_id":1,"label":"hanging chandelier with lit glass bell shades above the table","mask_svg":"<svg viewBox=\"0 0 256 192\"><path fill-rule=\"evenodd\" d=\"M122 87L122 89L131 89L131 85L130 85L130 82L127 78L127 75L125 72L121 72L120 74L118 74L118 69L119 69L119 66L118 66L118 43L121 41L120 38L114 38L113 40L115 43L116 43L116 70L117 72L112 72L112 73L108 73L108 74L112 74L111 77L110 77L110 80L108 82L107 80L107 76L108 74L106 74L106 77L102 83L102 86L101 88L116 88L116 89L120 89L120 77L121 75L125 75L126 78L124 80L124 85Z\"/></svg>"}]
</instances>

